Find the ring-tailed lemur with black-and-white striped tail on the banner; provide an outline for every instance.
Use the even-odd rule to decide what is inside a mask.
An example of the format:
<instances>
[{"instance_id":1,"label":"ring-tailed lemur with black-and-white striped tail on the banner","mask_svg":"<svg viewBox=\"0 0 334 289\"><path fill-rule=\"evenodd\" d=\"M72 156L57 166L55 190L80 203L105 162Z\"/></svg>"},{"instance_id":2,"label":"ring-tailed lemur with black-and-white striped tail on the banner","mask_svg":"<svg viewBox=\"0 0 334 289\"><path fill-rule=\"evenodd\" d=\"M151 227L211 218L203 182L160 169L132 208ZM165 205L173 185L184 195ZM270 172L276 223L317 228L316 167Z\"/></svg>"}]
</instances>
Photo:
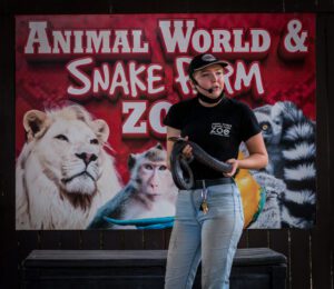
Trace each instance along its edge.
<instances>
[{"instance_id":1,"label":"ring-tailed lemur with black-and-white striped tail on the banner","mask_svg":"<svg viewBox=\"0 0 334 289\"><path fill-rule=\"evenodd\" d=\"M315 219L315 122L291 101L254 109L269 156L265 171L286 185L282 227L311 228Z\"/></svg>"}]
</instances>

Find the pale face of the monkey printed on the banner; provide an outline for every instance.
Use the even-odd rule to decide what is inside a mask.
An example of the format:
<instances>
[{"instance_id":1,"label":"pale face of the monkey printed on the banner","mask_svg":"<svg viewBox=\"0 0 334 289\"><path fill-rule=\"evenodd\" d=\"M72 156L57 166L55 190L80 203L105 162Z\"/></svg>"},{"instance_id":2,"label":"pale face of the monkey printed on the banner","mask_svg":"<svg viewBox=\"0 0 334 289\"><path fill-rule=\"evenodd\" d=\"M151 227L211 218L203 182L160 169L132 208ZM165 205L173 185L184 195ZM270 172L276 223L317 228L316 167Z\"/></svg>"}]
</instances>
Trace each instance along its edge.
<instances>
[{"instance_id":1,"label":"pale face of the monkey printed on the banner","mask_svg":"<svg viewBox=\"0 0 334 289\"><path fill-rule=\"evenodd\" d=\"M151 197L158 197L170 191L173 178L167 169L166 161L146 160L140 165L139 177L141 179L141 191Z\"/></svg>"}]
</instances>

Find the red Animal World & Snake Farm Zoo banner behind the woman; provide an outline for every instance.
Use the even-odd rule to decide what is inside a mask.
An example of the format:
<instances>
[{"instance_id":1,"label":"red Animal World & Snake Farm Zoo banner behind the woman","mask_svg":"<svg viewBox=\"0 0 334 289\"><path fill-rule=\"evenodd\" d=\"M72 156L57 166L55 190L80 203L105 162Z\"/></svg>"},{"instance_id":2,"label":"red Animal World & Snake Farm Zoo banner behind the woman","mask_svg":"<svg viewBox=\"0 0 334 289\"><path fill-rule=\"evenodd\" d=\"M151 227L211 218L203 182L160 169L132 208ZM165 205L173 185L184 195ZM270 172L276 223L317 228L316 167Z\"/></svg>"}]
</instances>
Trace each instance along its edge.
<instances>
[{"instance_id":1,"label":"red Animal World & Snake Farm Zoo banner behind the woman","mask_svg":"<svg viewBox=\"0 0 334 289\"><path fill-rule=\"evenodd\" d=\"M235 177L245 228L313 227L314 14L198 13L16 18L16 228L171 227L163 119L195 96L204 52L229 63L225 93L254 110L269 155Z\"/></svg>"}]
</instances>

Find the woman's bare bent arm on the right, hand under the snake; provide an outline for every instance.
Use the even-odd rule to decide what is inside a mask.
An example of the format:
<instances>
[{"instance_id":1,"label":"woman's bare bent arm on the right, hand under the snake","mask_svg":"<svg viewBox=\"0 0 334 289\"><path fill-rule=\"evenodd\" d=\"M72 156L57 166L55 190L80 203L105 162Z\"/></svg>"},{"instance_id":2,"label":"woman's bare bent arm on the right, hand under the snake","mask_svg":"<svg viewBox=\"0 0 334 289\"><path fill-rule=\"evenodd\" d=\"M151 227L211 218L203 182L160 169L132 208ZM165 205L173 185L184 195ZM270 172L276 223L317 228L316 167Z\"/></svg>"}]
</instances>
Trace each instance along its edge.
<instances>
[{"instance_id":1,"label":"woman's bare bent arm on the right, hand under the snake","mask_svg":"<svg viewBox=\"0 0 334 289\"><path fill-rule=\"evenodd\" d=\"M249 156L243 160L227 160L233 165L233 170L229 173L224 173L225 177L234 176L238 168L258 170L268 165L268 153L261 132L249 138L245 143Z\"/></svg>"}]
</instances>

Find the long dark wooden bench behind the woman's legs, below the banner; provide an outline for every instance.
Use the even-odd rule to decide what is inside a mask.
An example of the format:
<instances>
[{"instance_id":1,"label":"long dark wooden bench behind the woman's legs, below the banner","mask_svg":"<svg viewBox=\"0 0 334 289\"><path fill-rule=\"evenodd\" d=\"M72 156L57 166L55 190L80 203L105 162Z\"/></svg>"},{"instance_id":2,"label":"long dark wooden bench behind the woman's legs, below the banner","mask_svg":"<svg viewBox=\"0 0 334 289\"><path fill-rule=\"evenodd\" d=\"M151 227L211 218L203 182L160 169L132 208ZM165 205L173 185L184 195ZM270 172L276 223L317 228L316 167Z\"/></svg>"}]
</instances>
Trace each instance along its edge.
<instances>
[{"instance_id":1,"label":"long dark wooden bench behind the woman's legs, below the banner","mask_svg":"<svg viewBox=\"0 0 334 289\"><path fill-rule=\"evenodd\" d=\"M24 281L29 288L56 288L55 282L59 288L79 288L78 282L80 288L86 288L82 282L94 288L163 288L166 257L167 250L36 250L24 260ZM277 286L273 288L281 289L285 262L268 248L238 249L232 288L268 288L271 280ZM117 283L112 282L116 278ZM194 288L200 288L196 279Z\"/></svg>"}]
</instances>

